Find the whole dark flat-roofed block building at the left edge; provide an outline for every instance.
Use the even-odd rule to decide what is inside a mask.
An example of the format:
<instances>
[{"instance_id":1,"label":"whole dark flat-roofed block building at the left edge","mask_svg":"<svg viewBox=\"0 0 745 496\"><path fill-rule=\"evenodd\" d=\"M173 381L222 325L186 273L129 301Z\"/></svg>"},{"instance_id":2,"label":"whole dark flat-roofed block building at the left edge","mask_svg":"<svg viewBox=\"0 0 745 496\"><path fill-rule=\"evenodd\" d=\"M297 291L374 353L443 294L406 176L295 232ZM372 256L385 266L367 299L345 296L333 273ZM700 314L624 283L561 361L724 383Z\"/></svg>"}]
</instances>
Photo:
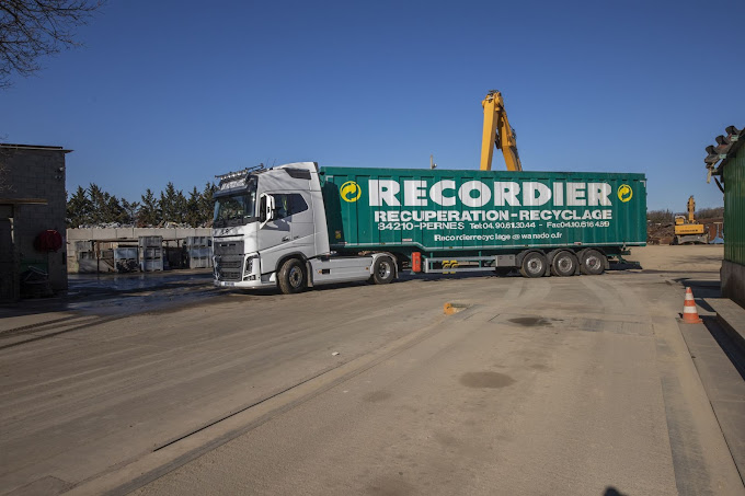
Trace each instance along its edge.
<instances>
[{"instance_id":1,"label":"whole dark flat-roofed block building at the left edge","mask_svg":"<svg viewBox=\"0 0 745 496\"><path fill-rule=\"evenodd\" d=\"M65 155L70 151L0 143L0 301L21 296L21 279L33 279L28 270L36 281L47 274L45 287L54 291L67 289Z\"/></svg>"}]
</instances>

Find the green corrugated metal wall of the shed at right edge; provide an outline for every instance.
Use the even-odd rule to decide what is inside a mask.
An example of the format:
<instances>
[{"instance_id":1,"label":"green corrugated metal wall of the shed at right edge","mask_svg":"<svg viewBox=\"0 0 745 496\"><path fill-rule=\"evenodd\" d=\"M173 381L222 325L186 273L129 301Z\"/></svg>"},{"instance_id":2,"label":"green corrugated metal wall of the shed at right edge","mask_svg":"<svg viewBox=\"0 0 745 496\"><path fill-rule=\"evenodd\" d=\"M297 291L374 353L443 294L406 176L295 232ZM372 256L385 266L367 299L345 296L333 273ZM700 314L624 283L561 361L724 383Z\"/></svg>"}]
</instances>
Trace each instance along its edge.
<instances>
[{"instance_id":1,"label":"green corrugated metal wall of the shed at right edge","mask_svg":"<svg viewBox=\"0 0 745 496\"><path fill-rule=\"evenodd\" d=\"M724 259L745 265L745 147L724 166Z\"/></svg>"}]
</instances>

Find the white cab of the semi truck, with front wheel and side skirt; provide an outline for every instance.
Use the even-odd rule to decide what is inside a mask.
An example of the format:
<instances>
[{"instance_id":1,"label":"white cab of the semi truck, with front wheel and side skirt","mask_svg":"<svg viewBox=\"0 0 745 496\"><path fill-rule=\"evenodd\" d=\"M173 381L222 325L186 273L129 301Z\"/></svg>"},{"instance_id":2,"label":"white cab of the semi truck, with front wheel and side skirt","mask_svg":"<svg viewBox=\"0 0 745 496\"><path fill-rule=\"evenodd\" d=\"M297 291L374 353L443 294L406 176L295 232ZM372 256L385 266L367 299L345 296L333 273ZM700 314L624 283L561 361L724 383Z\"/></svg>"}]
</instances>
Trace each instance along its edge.
<instances>
[{"instance_id":1,"label":"white cab of the semi truck, with front wheel and side skirt","mask_svg":"<svg viewBox=\"0 0 745 496\"><path fill-rule=\"evenodd\" d=\"M373 276L380 255L341 257L330 251L316 163L256 168L217 178L213 222L216 286L278 286L291 293L308 286ZM394 275L393 261L385 262L386 273Z\"/></svg>"}]
</instances>

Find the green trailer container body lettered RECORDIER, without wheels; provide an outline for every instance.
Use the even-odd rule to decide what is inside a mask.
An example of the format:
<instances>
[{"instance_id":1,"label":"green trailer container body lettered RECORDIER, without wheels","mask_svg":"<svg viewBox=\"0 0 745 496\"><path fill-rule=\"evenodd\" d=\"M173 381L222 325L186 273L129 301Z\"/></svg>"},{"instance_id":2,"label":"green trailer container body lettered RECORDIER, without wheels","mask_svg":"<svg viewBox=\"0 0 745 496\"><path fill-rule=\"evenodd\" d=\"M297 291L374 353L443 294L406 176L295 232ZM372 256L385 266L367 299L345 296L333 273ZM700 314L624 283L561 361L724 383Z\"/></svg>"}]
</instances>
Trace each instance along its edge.
<instances>
[{"instance_id":1,"label":"green trailer container body lettered RECORDIER, without wheels","mask_svg":"<svg viewBox=\"0 0 745 496\"><path fill-rule=\"evenodd\" d=\"M504 253L646 243L643 174L321 168L335 250Z\"/></svg>"}]
</instances>

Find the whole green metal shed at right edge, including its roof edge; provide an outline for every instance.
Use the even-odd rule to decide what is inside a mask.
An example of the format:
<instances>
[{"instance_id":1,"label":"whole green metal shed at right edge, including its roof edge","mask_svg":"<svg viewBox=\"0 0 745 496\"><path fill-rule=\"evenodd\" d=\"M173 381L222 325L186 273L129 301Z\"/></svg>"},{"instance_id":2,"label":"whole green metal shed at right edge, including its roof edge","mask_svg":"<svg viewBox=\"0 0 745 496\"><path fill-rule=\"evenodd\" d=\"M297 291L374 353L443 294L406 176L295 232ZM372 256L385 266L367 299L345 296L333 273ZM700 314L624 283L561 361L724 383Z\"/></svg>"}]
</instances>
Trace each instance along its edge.
<instances>
[{"instance_id":1,"label":"whole green metal shed at right edge, including its roof edge","mask_svg":"<svg viewBox=\"0 0 745 496\"><path fill-rule=\"evenodd\" d=\"M703 161L724 193L722 296L745 308L745 129L730 126L725 132L707 147Z\"/></svg>"}]
</instances>

